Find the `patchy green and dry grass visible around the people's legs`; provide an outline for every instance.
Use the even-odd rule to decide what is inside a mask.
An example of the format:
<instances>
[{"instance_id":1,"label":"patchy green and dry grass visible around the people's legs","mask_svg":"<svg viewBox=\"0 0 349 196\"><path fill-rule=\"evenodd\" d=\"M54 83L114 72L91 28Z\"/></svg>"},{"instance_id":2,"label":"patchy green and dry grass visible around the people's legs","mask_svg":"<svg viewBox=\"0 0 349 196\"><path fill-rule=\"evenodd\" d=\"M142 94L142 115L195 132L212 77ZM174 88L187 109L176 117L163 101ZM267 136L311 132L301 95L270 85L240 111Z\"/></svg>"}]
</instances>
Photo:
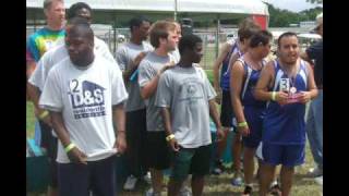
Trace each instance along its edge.
<instances>
[{"instance_id":1,"label":"patchy green and dry grass visible around the people's legs","mask_svg":"<svg viewBox=\"0 0 349 196\"><path fill-rule=\"evenodd\" d=\"M213 81L212 70L206 71L209 81ZM27 137L34 137L34 112L33 105L27 102L26 105L26 133ZM301 167L298 167L296 170L296 175L293 180L293 187L291 195L292 196L321 196L322 186L317 185L313 179L305 176L305 173L310 168L314 167L314 161L310 152L309 144L305 148L305 163ZM234 196L240 195L243 191L243 187L234 187L230 185L232 179L232 173L228 169L221 175L209 175L205 182L204 195L205 196ZM148 185L140 183L137 185L137 192L122 192L119 195L122 196L141 196L145 194L145 191L148 188ZM257 186L254 188L254 194L257 195ZM43 193L29 193L28 196L44 196Z\"/></svg>"}]
</instances>

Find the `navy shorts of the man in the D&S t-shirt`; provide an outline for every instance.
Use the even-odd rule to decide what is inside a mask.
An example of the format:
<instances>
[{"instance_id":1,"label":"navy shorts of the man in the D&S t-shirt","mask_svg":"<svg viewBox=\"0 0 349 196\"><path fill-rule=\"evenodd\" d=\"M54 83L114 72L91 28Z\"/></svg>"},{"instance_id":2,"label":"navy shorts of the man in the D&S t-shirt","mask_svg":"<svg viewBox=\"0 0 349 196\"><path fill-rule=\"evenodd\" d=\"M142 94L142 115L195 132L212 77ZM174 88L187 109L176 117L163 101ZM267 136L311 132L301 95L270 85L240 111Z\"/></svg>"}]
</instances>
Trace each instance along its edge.
<instances>
[{"instance_id":1,"label":"navy shorts of the man in the D&S t-shirt","mask_svg":"<svg viewBox=\"0 0 349 196\"><path fill-rule=\"evenodd\" d=\"M58 163L58 193L60 196L93 195L115 196L116 156L88 161L87 166Z\"/></svg>"}]
</instances>

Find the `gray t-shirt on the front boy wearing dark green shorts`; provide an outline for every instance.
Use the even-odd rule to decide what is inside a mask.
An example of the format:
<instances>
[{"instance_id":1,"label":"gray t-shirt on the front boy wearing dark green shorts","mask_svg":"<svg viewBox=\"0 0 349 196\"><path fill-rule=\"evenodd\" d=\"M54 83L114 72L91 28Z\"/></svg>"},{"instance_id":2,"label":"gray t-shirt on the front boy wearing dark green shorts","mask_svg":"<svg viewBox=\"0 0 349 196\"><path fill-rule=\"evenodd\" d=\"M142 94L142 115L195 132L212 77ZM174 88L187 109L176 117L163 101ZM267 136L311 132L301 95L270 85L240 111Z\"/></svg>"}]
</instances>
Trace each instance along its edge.
<instances>
[{"instance_id":1,"label":"gray t-shirt on the front boy wearing dark green shorts","mask_svg":"<svg viewBox=\"0 0 349 196\"><path fill-rule=\"evenodd\" d=\"M212 143L208 101L215 97L202 68L176 65L160 76L155 105L170 108L171 127L179 145L197 148Z\"/></svg>"}]
</instances>

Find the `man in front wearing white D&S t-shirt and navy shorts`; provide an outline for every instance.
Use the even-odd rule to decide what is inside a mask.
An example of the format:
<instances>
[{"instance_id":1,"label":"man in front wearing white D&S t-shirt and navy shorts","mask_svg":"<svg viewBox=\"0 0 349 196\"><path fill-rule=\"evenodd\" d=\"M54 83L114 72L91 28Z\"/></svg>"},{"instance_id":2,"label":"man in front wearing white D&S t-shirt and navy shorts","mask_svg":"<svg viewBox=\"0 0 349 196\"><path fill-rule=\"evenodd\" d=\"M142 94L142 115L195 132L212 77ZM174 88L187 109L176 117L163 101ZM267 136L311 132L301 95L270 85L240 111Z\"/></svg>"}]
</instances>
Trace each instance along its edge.
<instances>
[{"instance_id":1,"label":"man in front wearing white D&S t-shirt and navy shorts","mask_svg":"<svg viewBox=\"0 0 349 196\"><path fill-rule=\"evenodd\" d=\"M49 71L39 100L59 138L59 194L115 196L113 155L127 148L122 73L94 52L87 23L67 27L65 46L69 58Z\"/></svg>"}]
</instances>

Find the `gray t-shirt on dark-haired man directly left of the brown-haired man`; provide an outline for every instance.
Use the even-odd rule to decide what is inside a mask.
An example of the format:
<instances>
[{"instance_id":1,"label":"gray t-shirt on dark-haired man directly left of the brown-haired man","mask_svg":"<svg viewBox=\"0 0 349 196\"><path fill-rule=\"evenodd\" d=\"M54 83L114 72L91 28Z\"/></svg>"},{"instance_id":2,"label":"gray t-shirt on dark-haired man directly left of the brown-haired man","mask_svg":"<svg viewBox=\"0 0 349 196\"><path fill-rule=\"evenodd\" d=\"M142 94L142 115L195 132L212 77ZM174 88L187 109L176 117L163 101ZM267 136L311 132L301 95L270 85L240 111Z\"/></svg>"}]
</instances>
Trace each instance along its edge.
<instances>
[{"instance_id":1,"label":"gray t-shirt on dark-haired man directly left of the brown-haired man","mask_svg":"<svg viewBox=\"0 0 349 196\"><path fill-rule=\"evenodd\" d=\"M118 48L116 53L117 62L120 66L120 70L125 71L130 70L130 64L132 61L142 52L142 51L153 51L152 45L143 41L142 45L135 45L133 42L127 42ZM144 100L141 97L140 85L137 81L127 81L125 86L130 95L127 103L125 111L135 111L144 109Z\"/></svg>"}]
</instances>

